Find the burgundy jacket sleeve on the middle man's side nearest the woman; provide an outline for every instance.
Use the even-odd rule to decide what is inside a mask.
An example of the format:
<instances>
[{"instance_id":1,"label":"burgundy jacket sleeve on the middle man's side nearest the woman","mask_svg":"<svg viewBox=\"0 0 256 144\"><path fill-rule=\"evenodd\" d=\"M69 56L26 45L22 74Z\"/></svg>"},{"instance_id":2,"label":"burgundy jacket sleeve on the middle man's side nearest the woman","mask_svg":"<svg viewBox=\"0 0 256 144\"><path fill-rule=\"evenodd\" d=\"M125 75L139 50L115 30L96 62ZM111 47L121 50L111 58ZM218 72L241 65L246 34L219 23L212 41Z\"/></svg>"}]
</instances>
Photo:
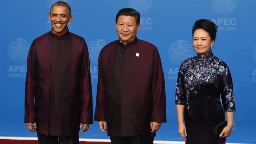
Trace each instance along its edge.
<instances>
[{"instance_id":1,"label":"burgundy jacket sleeve on the middle man's side nearest the woman","mask_svg":"<svg viewBox=\"0 0 256 144\"><path fill-rule=\"evenodd\" d=\"M157 49L154 53L154 78L152 80L152 99L153 110L151 115L151 122L166 122L166 95L165 95L165 82L163 75L163 68L161 59Z\"/></svg>"}]
</instances>

